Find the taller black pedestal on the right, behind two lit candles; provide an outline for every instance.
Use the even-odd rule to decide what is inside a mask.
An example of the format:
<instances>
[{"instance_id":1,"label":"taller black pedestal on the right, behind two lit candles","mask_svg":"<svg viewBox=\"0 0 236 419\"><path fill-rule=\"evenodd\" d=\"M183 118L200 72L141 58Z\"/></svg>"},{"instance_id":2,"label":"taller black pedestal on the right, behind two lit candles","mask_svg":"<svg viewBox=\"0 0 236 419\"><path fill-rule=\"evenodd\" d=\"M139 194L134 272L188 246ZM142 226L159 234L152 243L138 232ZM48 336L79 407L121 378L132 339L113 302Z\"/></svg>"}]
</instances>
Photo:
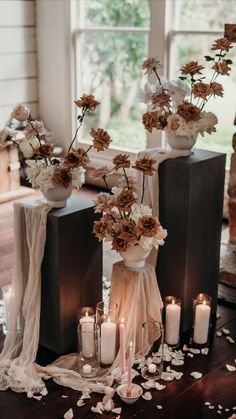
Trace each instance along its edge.
<instances>
[{"instance_id":1,"label":"taller black pedestal on the right, behind two lit candles","mask_svg":"<svg viewBox=\"0 0 236 419\"><path fill-rule=\"evenodd\" d=\"M168 230L159 248L162 297L182 300L182 331L192 326L192 299L207 293L216 312L225 154L194 150L159 168L160 221Z\"/></svg>"}]
</instances>

